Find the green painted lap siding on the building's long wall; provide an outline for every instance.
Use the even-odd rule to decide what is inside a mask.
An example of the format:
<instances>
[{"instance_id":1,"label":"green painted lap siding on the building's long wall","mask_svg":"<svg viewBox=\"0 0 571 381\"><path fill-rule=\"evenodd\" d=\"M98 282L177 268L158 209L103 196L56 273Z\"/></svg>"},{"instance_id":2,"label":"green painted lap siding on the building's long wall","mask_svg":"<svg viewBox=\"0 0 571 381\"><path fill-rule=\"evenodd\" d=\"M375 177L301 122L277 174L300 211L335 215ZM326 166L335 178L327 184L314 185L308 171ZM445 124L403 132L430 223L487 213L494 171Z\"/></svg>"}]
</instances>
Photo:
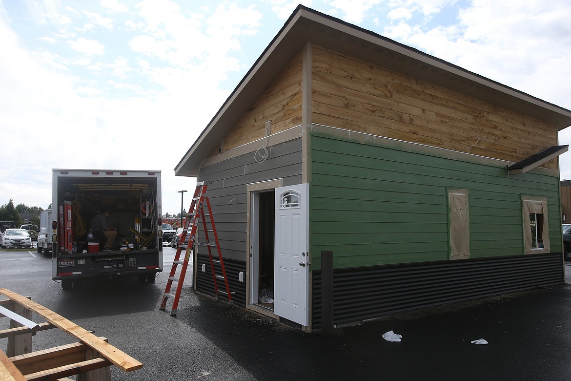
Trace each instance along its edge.
<instances>
[{"instance_id":1,"label":"green painted lap siding on the building's long wall","mask_svg":"<svg viewBox=\"0 0 571 381\"><path fill-rule=\"evenodd\" d=\"M320 267L322 250L334 252L337 268L447 260L450 189L468 190L471 258L523 254L522 194L547 198L551 251L561 251L556 172L508 175L505 166L410 146L388 148L313 131L313 268Z\"/></svg>"}]
</instances>

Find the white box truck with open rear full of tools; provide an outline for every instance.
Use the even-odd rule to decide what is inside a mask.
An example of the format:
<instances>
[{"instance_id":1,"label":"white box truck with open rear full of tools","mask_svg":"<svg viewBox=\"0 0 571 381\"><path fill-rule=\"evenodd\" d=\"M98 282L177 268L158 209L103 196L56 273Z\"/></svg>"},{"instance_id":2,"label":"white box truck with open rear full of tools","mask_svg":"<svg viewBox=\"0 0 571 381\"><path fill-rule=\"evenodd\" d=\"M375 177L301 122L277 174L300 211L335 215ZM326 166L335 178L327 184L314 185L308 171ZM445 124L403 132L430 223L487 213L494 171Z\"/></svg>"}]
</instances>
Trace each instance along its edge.
<instances>
[{"instance_id":1,"label":"white box truck with open rear full of tools","mask_svg":"<svg viewBox=\"0 0 571 381\"><path fill-rule=\"evenodd\" d=\"M94 276L154 282L163 271L160 198L160 171L54 169L51 278L64 290ZM111 246L91 231L101 213L116 232Z\"/></svg>"}]
</instances>

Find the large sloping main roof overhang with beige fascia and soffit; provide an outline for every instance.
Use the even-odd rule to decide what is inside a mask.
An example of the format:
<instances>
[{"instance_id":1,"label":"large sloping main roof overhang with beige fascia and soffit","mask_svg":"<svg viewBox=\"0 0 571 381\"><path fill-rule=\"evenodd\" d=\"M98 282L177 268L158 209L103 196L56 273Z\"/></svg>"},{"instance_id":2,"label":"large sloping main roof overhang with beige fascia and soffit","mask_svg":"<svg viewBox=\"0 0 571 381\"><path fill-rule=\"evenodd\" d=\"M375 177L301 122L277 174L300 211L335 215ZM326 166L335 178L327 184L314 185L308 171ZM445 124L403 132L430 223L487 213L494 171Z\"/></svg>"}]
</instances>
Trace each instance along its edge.
<instances>
[{"instance_id":1,"label":"large sloping main roof overhang with beige fascia and soffit","mask_svg":"<svg viewBox=\"0 0 571 381\"><path fill-rule=\"evenodd\" d=\"M571 125L569 110L300 5L180 160L175 175L196 177L204 158L305 42L552 123L557 130Z\"/></svg>"}]
</instances>

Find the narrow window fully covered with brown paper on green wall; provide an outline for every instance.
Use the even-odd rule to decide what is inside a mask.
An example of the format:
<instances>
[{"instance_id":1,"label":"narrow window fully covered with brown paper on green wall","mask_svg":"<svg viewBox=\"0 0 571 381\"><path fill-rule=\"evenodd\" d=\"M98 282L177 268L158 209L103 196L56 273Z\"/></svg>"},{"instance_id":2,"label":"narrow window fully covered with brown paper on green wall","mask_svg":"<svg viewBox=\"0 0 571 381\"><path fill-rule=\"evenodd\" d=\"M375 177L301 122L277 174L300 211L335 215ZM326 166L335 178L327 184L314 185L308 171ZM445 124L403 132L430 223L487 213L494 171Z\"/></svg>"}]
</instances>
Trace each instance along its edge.
<instances>
[{"instance_id":1,"label":"narrow window fully covered with brown paper on green wall","mask_svg":"<svg viewBox=\"0 0 571 381\"><path fill-rule=\"evenodd\" d=\"M470 258L468 190L448 191L450 259Z\"/></svg>"}]
</instances>

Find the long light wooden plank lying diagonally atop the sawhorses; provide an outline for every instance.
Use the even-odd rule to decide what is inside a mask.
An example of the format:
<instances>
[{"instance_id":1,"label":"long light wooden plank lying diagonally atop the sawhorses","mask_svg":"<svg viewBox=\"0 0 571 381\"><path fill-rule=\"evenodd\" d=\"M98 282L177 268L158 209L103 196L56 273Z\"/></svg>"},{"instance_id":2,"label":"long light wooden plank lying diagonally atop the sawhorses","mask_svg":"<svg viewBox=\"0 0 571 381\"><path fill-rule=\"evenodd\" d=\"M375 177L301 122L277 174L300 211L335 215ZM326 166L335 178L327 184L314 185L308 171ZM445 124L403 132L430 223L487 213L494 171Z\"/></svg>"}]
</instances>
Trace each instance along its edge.
<instances>
[{"instance_id":1,"label":"long light wooden plank lying diagonally atop the sawhorses","mask_svg":"<svg viewBox=\"0 0 571 381\"><path fill-rule=\"evenodd\" d=\"M126 353L118 350L118 348L115 348L111 344L104 342L102 339L98 338L94 334L91 334L89 331L71 322L70 320L67 320L63 316L49 310L49 308L46 308L41 304L34 302L33 300L26 299L22 295L7 290L6 288L0 288L0 294L7 296L8 298L21 304L22 306L25 306L26 308L29 308L30 310L33 310L35 313L46 319L47 322L54 324L55 326L61 328L61 330L86 343L88 346L102 354L104 358L110 360L113 364L115 364L115 366L120 368L120 370L124 372L130 372L143 367L143 364L138 360L135 360Z\"/></svg>"}]
</instances>

